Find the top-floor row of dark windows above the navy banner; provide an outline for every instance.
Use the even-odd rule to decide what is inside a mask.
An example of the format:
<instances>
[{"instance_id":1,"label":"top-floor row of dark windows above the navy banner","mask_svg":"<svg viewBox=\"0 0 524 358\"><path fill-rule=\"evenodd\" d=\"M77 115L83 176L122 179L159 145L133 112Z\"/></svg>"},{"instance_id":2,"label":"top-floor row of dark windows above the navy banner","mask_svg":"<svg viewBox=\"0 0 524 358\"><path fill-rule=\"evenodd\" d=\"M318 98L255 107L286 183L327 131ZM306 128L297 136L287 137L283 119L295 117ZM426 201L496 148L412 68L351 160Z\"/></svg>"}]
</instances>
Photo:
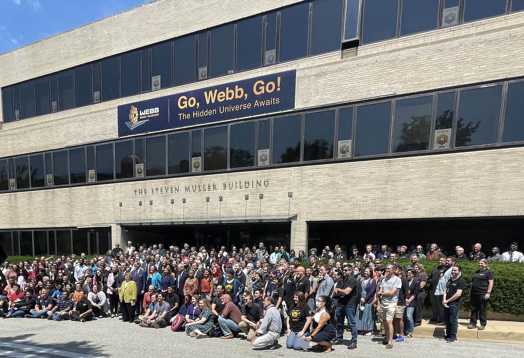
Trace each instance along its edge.
<instances>
[{"instance_id":1,"label":"top-floor row of dark windows above the navy banner","mask_svg":"<svg viewBox=\"0 0 524 358\"><path fill-rule=\"evenodd\" d=\"M339 50L341 38L368 44L523 9L524 0L303 2L5 87L4 122Z\"/></svg>"}]
</instances>

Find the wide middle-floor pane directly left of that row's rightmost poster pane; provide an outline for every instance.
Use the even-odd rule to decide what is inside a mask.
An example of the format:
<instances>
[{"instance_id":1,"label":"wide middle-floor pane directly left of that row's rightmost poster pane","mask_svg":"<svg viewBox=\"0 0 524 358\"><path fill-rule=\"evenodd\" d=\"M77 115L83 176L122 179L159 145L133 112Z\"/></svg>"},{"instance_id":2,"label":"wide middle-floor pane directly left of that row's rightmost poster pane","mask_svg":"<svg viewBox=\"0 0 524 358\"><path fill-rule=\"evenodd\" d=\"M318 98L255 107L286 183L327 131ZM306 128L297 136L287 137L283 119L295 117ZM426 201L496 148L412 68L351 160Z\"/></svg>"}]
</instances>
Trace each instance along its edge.
<instances>
[{"instance_id":1,"label":"wide middle-floor pane directly left of that row's rightmost poster pane","mask_svg":"<svg viewBox=\"0 0 524 358\"><path fill-rule=\"evenodd\" d=\"M429 149L433 96L395 102L393 153Z\"/></svg>"}]
</instances>

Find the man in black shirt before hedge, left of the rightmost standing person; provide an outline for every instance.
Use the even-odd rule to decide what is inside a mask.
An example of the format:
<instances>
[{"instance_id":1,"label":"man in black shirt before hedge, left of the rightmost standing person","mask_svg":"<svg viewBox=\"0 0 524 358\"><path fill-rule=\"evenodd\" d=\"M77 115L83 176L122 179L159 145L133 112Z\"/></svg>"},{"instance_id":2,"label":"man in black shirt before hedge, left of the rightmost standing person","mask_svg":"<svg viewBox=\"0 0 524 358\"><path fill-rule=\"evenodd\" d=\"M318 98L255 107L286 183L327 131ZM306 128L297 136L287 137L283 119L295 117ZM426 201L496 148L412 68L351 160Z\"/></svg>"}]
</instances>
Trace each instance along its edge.
<instances>
[{"instance_id":1,"label":"man in black shirt before hedge, left of the rightmost standing person","mask_svg":"<svg viewBox=\"0 0 524 358\"><path fill-rule=\"evenodd\" d=\"M455 343L457 340L457 328L459 327L459 309L462 292L466 283L460 276L462 269L459 265L451 267L451 278L447 281L444 291L444 322L446 322L446 334L443 338L447 343Z\"/></svg>"}]
</instances>

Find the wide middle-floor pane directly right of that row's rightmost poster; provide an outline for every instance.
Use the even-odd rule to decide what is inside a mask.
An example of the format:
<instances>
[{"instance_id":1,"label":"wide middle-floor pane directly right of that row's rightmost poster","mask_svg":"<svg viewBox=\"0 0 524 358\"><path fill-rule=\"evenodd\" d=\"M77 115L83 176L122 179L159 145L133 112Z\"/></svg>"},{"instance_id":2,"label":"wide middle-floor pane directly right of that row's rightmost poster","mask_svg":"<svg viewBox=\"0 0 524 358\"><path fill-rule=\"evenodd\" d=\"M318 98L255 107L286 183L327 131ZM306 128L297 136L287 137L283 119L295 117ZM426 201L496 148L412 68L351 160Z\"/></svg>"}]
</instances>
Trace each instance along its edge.
<instances>
[{"instance_id":1,"label":"wide middle-floor pane directly right of that row's rightmost poster","mask_svg":"<svg viewBox=\"0 0 524 358\"><path fill-rule=\"evenodd\" d=\"M455 147L497 143L502 86L460 92Z\"/></svg>"}]
</instances>

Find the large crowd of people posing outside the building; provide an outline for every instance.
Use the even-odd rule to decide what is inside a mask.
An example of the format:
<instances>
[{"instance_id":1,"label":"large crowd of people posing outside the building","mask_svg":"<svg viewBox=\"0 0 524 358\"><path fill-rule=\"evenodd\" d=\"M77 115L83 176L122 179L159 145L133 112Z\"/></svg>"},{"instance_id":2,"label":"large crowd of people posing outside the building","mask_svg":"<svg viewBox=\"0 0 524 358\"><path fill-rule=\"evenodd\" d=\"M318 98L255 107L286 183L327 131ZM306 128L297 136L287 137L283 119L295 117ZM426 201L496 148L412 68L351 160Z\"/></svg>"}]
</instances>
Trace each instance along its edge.
<instances>
[{"instance_id":1,"label":"large crowd of people posing outside the building","mask_svg":"<svg viewBox=\"0 0 524 358\"><path fill-rule=\"evenodd\" d=\"M411 338L422 323L423 303L430 296L429 323L445 327L456 342L457 319L465 288L462 260L478 261L470 286L469 329L487 324L487 302L494 285L490 261L524 262L511 243L486 256L480 244L471 252L455 247L448 255L436 244L410 249L366 245L329 246L288 252L286 245L231 248L140 245L109 250L105 256L36 257L6 261L0 273L0 316L88 322L118 318L144 328L183 331L196 339L234 339L241 332L254 348L277 348L286 335L288 349L330 352L351 333L347 349L356 349L358 335L375 332L379 344ZM399 258L409 258L402 267ZM420 258L438 261L431 273ZM302 262L309 262L304 268ZM323 261L323 262L321 262ZM327 263L324 263L327 261ZM319 264L320 262L320 264ZM429 290L425 286L429 286ZM477 321L480 326L477 327ZM380 329L377 330L377 323Z\"/></svg>"}]
</instances>

